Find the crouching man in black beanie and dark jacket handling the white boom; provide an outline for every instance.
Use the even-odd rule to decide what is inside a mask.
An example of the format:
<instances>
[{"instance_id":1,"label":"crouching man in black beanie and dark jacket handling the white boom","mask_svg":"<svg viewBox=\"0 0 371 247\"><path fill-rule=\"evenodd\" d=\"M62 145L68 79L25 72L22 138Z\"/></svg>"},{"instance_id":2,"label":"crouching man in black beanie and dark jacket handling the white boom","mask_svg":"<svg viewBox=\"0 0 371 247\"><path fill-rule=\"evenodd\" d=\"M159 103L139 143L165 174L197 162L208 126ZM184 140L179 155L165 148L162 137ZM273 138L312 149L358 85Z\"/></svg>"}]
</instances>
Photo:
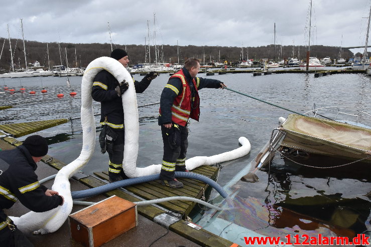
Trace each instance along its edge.
<instances>
[{"instance_id":1,"label":"crouching man in black beanie and dark jacket handling the white boom","mask_svg":"<svg viewBox=\"0 0 371 247\"><path fill-rule=\"evenodd\" d=\"M22 145L0 152L0 246L33 246L17 225L7 216L8 209L19 200L28 209L45 212L63 205L57 191L38 181L37 162L48 153L44 137L32 135Z\"/></svg>"}]
</instances>

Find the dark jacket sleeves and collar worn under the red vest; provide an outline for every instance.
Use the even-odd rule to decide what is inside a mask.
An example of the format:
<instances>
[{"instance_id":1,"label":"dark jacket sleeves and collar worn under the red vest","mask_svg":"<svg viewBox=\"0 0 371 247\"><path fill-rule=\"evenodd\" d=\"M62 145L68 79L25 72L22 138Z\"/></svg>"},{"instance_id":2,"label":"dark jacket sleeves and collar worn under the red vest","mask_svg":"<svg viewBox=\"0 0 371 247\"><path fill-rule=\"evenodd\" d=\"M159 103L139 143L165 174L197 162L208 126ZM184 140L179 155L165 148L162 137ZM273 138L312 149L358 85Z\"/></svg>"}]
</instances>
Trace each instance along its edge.
<instances>
[{"instance_id":1,"label":"dark jacket sleeves and collar worn under the red vest","mask_svg":"<svg viewBox=\"0 0 371 247\"><path fill-rule=\"evenodd\" d=\"M192 83L191 75L189 74L189 71L185 67L183 67L182 70L185 75L186 81L188 85L190 86L191 95L193 95L194 94L193 92L195 91L195 89ZM220 83L222 83L221 81L218 81L218 80L205 79L201 77L199 78L195 77L195 80L196 81L199 80L199 85L197 87L198 90L203 89L203 88L220 88ZM173 89L171 89L172 87L168 85L175 87L179 93L177 94ZM161 114L159 116L159 125L172 122L171 121L171 116L172 116L171 107L173 105L174 99L178 95L182 95L182 94L183 94L182 81L179 78L171 78L168 81L167 85L165 85L165 88L163 89L161 93L161 99L160 99ZM191 102L189 102L189 104L191 104Z\"/></svg>"}]
</instances>

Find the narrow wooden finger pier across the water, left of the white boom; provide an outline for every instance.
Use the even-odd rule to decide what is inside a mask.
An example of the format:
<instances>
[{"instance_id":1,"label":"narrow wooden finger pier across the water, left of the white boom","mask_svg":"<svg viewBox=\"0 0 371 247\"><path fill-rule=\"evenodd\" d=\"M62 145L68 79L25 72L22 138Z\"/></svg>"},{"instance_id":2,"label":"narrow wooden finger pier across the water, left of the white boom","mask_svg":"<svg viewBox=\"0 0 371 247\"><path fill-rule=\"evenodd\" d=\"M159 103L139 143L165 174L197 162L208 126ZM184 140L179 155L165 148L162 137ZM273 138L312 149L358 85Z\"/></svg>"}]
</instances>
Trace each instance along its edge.
<instances>
[{"instance_id":1,"label":"narrow wooden finger pier across the water, left of the white boom","mask_svg":"<svg viewBox=\"0 0 371 247\"><path fill-rule=\"evenodd\" d=\"M68 119L60 118L54 120L34 121L26 123L1 124L0 129L15 137L21 137L67 122Z\"/></svg>"}]
</instances>

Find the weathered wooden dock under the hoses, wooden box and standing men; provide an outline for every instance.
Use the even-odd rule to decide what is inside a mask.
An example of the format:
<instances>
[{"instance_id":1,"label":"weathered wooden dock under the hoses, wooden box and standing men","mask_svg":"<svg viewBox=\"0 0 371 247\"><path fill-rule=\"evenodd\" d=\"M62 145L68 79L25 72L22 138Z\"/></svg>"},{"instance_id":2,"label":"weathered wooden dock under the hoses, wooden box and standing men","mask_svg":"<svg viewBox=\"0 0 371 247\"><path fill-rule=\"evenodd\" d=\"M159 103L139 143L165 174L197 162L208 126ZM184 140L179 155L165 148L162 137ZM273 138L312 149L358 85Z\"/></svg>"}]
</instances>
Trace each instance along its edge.
<instances>
[{"instance_id":1,"label":"weathered wooden dock under the hoses, wooden box and standing men","mask_svg":"<svg viewBox=\"0 0 371 247\"><path fill-rule=\"evenodd\" d=\"M17 141L12 137L3 137L0 139L0 148L3 150L14 148L14 146L21 145L22 142ZM42 162L38 163L36 170L39 179L55 174L59 169L65 166L62 161L54 159L48 155L44 156ZM55 169L54 169L55 168ZM192 172L205 175L211 179L216 179L219 169L210 166L201 166ZM106 172L96 172L95 176L85 175L83 173L75 174L71 179L71 190L82 190L88 187L98 187L107 183ZM135 202L143 199L156 199L168 196L190 196L195 198L202 198L204 193L208 190L208 185L203 182L193 179L179 179L184 183L182 189L171 189L163 186L159 181L152 181L148 183L141 183L137 185L127 186L125 189L114 189L104 194L89 197L87 201L100 201L106 197L116 195L123 199ZM53 181L45 183L47 187L51 187ZM127 246L137 244L138 246L148 246L157 237L166 232L166 229L153 222L155 216L160 213L167 212L167 210L179 210L184 212L184 218L171 224L169 226L169 233L156 241L153 246L239 246L227 239L215 235L203 228L197 228L192 225L190 221L185 220L186 216L195 208L197 203L188 201L172 201L159 203L156 205L138 206L138 219L137 227L119 235L111 241L103 244L102 246ZM83 206L74 205L72 212L82 209ZM17 202L11 209L6 210L8 215L20 216L29 210L21 203ZM188 218L189 220L189 218ZM80 243L71 239L68 220L64 222L62 227L56 232L46 235L29 235L29 239L35 246L82 246ZM174 245L175 244L175 245Z\"/></svg>"}]
</instances>

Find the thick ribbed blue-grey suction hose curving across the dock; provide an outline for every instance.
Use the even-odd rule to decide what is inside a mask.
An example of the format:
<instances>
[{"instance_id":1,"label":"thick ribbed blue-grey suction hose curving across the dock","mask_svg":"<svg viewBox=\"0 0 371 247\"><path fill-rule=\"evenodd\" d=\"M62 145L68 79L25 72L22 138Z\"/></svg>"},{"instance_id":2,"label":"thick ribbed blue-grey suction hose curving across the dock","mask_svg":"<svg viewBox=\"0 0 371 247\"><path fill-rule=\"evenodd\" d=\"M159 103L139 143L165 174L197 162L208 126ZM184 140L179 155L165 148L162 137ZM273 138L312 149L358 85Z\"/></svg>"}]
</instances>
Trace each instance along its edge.
<instances>
[{"instance_id":1,"label":"thick ribbed blue-grey suction hose curving across the dock","mask_svg":"<svg viewBox=\"0 0 371 247\"><path fill-rule=\"evenodd\" d=\"M200 180L212 186L216 191L219 192L219 194L222 197L226 198L228 196L227 192L225 192L225 190L219 184L217 184L214 180L206 176L193 173L193 172L176 171L175 177L191 178L191 179ZM80 191L71 191L71 195L72 195L72 199L89 197L89 196L98 195L98 194L101 194L101 193L104 193L104 192L107 192L107 191L110 191L116 188L126 187L126 186L137 184L137 183L150 182L150 181L159 180L159 179L160 179L160 174L129 178L129 179L120 180L114 183L108 183L108 184L105 184L105 185L102 185L96 188L85 189L85 190L80 190Z\"/></svg>"}]
</instances>

